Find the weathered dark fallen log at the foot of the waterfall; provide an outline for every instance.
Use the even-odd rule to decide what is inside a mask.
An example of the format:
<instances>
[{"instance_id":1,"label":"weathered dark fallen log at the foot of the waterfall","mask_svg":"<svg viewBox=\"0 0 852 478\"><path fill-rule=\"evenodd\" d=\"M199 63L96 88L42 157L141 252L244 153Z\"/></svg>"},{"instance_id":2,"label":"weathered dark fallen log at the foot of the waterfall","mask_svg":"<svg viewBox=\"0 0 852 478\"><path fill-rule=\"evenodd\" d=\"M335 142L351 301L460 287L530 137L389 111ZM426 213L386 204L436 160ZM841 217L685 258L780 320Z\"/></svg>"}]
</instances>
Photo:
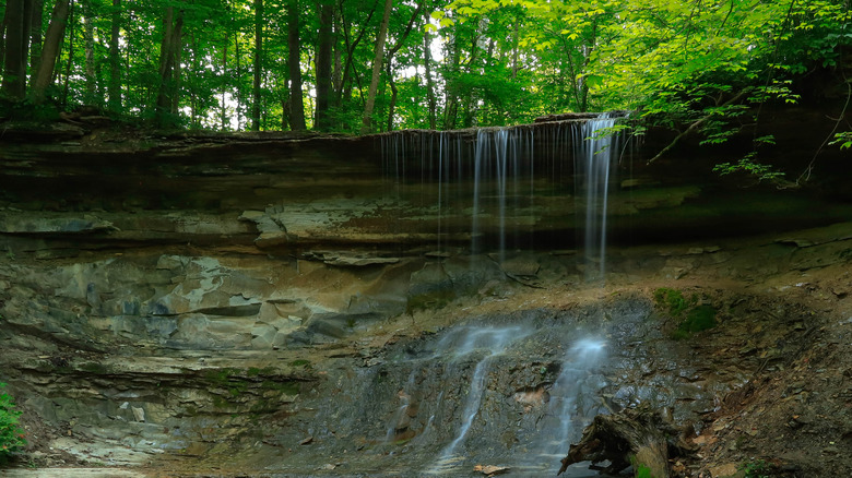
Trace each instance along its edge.
<instances>
[{"instance_id":1,"label":"weathered dark fallen log at the foot of the waterfall","mask_svg":"<svg viewBox=\"0 0 852 478\"><path fill-rule=\"evenodd\" d=\"M580 441L569 446L557 475L575 463L592 462L589 468L611 475L634 465L636 474L647 469L653 478L668 478L670 456L683 456L688 450L681 431L660 411L650 407L628 408L594 417ZM610 466L597 466L607 461Z\"/></svg>"}]
</instances>

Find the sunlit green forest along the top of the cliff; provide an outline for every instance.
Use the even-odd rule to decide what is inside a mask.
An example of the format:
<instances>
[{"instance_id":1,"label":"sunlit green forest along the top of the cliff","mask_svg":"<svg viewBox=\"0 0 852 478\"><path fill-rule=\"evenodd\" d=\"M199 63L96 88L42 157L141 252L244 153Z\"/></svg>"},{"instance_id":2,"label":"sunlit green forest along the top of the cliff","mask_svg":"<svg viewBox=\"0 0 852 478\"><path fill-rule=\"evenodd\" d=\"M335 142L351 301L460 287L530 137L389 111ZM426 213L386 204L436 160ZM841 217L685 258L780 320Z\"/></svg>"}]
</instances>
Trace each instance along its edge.
<instances>
[{"instance_id":1,"label":"sunlit green forest along the top of the cliff","mask_svg":"<svg viewBox=\"0 0 852 478\"><path fill-rule=\"evenodd\" d=\"M3 119L371 133L626 109L712 143L752 105L819 96L814 79L850 88L849 0L5 0L0 17Z\"/></svg>"}]
</instances>

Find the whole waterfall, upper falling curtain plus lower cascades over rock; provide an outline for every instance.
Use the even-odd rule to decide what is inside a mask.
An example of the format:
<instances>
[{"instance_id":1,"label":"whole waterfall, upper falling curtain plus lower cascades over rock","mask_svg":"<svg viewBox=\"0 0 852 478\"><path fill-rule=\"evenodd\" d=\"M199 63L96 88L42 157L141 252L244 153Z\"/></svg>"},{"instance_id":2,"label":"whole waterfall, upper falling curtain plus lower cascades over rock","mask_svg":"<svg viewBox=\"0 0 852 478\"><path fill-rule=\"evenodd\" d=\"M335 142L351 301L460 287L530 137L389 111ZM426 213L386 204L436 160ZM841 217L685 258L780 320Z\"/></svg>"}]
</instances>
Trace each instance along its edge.
<instances>
[{"instance_id":1,"label":"whole waterfall, upper falling curtain plus lower cascades over rock","mask_svg":"<svg viewBox=\"0 0 852 478\"><path fill-rule=\"evenodd\" d=\"M500 263L510 248L535 248L542 237L565 240L561 230L547 236L547 217L572 210L575 229L583 231L578 234L583 251L580 268L587 282L603 282L608 184L624 145L614 131L616 122L617 118L604 115L535 128L390 134L382 140L383 154L392 156L384 158L386 177L393 181L399 202L418 211L417 220L428 217L424 211L434 212L439 251L449 238L465 231L471 254L494 252L490 256ZM566 190L573 192L568 210L571 204L565 198L571 195ZM407 220L404 211L400 214L401 220ZM534 334L545 332L528 325L459 327L445 334L430 354L407 359L404 366L395 362L400 370L394 373L405 370L405 375L388 396L395 405L386 415L382 442L433 451L435 458L425 471L431 475L455 475L482 447L494 450L497 442L488 435L496 432L488 422L494 417L484 410L494 406L489 387L501 385L492 375L506 374L507 363L525 360L513 350L524 347L520 344ZM603 411L594 397L606 385L599 372L606 357L605 342L594 334L583 336L572 328L554 338L559 349L569 344L564 356L555 358L558 375L516 393L517 401L532 401L540 407L535 421L518 422L518 433L523 435L519 440L529 443L528 458L520 466L534 473L558 468L567 444ZM452 387L435 394L426 386L448 382ZM534 397L544 398L535 402ZM588 474L569 470L568 476Z\"/></svg>"}]
</instances>

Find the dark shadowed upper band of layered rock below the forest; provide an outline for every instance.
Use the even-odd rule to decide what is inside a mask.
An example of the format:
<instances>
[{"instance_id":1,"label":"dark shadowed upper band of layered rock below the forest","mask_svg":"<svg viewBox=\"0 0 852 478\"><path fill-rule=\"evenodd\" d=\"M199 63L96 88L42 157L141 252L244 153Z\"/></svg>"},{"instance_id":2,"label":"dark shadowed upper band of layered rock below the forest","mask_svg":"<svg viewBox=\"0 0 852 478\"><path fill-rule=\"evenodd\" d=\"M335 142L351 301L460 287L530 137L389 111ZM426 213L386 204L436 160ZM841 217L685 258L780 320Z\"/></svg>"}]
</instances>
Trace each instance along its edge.
<instances>
[{"instance_id":1,"label":"dark shadowed upper band of layered rock below the forest","mask_svg":"<svg viewBox=\"0 0 852 478\"><path fill-rule=\"evenodd\" d=\"M482 140L475 130L360 139L142 138L97 130L33 142L12 132L0 138L0 234L16 254L191 242L286 254L355 248L378 258L341 259L353 265L422 248L576 249L585 210L573 176L571 129L578 121L584 120L511 130L525 153L497 177L476 169L475 143ZM794 174L810 158L803 152L809 142L789 130L779 141L795 143L784 152L801 155L780 157ZM685 142L647 164L670 139L652 131L643 145L619 155L608 188L610 242L737 236L850 217L849 203L832 200L847 191L838 181L849 162L837 152L819 156L826 170L815 172L814 183L825 186L819 194L772 186L744 190L738 179L711 172L739 154L736 140L727 150Z\"/></svg>"}]
</instances>

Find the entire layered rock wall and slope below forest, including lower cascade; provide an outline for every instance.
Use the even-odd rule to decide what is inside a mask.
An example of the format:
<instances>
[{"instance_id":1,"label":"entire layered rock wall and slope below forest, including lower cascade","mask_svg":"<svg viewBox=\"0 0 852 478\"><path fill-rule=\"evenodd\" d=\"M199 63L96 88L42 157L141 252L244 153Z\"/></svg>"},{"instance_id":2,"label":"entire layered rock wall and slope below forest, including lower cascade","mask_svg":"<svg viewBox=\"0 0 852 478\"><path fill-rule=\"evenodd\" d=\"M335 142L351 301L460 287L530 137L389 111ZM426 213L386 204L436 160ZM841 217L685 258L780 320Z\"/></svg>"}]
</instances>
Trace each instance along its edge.
<instances>
[{"instance_id":1,"label":"entire layered rock wall and slope below forest, including lower cascade","mask_svg":"<svg viewBox=\"0 0 852 478\"><path fill-rule=\"evenodd\" d=\"M625 183L602 287L570 188L474 234L470 184L441 190L449 207L434 184L389 190L371 140L97 134L0 152L19 465L522 476L558 469L594 415L647 404L700 449L679 476L755 457L852 474L848 204ZM715 327L674 339L659 288ZM579 367L584 337L604 354Z\"/></svg>"}]
</instances>

